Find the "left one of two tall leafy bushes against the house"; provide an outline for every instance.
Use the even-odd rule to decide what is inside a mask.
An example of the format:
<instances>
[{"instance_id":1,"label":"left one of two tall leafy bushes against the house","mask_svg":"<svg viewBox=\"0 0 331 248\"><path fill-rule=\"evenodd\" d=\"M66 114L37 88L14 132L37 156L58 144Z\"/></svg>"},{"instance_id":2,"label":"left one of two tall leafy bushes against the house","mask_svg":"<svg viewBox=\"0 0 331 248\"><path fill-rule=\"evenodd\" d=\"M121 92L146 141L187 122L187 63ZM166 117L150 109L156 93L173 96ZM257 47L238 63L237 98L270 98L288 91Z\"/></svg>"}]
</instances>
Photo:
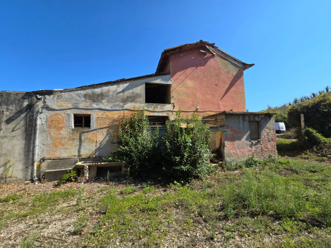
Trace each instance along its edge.
<instances>
[{"instance_id":1,"label":"left one of two tall leafy bushes against the house","mask_svg":"<svg viewBox=\"0 0 331 248\"><path fill-rule=\"evenodd\" d=\"M119 149L113 151L109 161L122 161L128 167L128 175L149 174L157 159L158 128L151 131L144 109L137 109L130 115L123 113L116 136Z\"/></svg>"}]
</instances>

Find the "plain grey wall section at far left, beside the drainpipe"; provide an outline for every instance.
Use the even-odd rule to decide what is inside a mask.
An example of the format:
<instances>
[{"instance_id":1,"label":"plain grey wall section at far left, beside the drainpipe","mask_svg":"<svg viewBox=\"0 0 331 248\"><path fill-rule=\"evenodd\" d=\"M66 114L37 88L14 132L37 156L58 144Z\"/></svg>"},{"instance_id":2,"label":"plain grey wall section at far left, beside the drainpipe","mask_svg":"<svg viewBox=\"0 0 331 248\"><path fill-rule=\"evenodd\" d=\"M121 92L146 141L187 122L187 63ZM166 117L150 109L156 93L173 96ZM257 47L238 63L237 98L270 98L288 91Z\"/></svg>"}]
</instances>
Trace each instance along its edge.
<instances>
[{"instance_id":1,"label":"plain grey wall section at far left, beside the drainpipe","mask_svg":"<svg viewBox=\"0 0 331 248\"><path fill-rule=\"evenodd\" d=\"M39 104L33 95L0 91L0 183L34 178Z\"/></svg>"}]
</instances>

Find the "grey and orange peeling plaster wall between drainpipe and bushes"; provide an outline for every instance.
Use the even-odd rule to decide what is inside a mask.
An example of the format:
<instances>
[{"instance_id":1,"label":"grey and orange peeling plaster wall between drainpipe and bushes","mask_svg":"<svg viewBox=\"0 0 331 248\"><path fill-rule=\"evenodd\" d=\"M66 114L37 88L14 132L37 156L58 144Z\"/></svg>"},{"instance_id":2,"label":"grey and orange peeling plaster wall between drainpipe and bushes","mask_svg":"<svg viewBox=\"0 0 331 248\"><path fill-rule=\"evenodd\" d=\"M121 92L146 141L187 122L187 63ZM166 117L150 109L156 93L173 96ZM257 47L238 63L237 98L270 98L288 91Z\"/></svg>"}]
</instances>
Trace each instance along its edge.
<instances>
[{"instance_id":1,"label":"grey and orange peeling plaster wall between drainpipe and bushes","mask_svg":"<svg viewBox=\"0 0 331 248\"><path fill-rule=\"evenodd\" d=\"M145 82L171 84L170 75L102 87L54 92L45 96L40 114L39 158L108 156L123 111L142 108L150 115L167 115L171 104L145 104ZM74 128L74 114L90 114L91 128Z\"/></svg>"}]
</instances>

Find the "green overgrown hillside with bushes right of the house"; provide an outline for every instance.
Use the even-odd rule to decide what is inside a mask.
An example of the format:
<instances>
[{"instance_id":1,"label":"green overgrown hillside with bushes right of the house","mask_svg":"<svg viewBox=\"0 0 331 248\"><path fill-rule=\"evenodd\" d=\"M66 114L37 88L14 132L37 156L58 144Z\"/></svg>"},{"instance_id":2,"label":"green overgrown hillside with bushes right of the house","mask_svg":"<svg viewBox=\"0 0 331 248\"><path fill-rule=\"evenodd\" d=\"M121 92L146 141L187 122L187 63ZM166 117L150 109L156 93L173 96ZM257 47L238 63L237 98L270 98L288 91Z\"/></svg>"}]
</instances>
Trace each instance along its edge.
<instances>
[{"instance_id":1,"label":"green overgrown hillside with bushes right of the house","mask_svg":"<svg viewBox=\"0 0 331 248\"><path fill-rule=\"evenodd\" d=\"M331 92L329 87L310 96L294 98L281 107L268 107L275 113L275 122L284 122L287 133L277 140L280 155L298 156L316 161L331 158ZM301 130L300 114L304 115L305 129Z\"/></svg>"}]
</instances>

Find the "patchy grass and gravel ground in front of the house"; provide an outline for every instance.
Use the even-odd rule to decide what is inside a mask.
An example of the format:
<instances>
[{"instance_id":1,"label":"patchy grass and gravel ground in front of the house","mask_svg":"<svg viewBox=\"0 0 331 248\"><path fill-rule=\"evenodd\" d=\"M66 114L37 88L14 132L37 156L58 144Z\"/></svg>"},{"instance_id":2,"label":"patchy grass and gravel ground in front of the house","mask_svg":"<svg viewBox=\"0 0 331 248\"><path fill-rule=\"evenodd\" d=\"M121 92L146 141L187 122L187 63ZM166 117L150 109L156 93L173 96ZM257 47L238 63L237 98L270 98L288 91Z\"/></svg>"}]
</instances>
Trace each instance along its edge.
<instances>
[{"instance_id":1,"label":"patchy grass and gravel ground in front of the house","mask_svg":"<svg viewBox=\"0 0 331 248\"><path fill-rule=\"evenodd\" d=\"M15 194L3 186L0 245L331 247L329 163L281 158L227 168L186 186L22 184Z\"/></svg>"}]
</instances>

